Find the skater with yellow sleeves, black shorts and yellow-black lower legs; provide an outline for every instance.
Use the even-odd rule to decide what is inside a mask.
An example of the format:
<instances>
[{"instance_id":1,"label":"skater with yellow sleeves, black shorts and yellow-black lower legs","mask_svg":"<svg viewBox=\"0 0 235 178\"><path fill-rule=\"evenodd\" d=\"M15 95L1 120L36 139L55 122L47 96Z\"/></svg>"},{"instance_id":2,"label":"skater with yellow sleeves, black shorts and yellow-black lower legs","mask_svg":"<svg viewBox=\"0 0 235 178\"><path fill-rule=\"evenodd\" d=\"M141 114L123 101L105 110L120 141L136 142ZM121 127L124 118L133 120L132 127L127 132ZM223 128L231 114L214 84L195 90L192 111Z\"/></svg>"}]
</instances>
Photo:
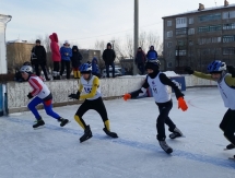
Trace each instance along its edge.
<instances>
[{"instance_id":1,"label":"skater with yellow sleeves, black shorts and yellow-black lower legs","mask_svg":"<svg viewBox=\"0 0 235 178\"><path fill-rule=\"evenodd\" d=\"M84 103L79 107L74 116L75 121L82 127L82 129L84 129L84 134L80 138L80 142L84 142L87 139L92 138L90 126L86 124L82 119L82 116L90 109L94 109L101 115L104 122L104 132L111 138L118 138L117 133L110 132L107 111L101 96L99 80L97 76L92 75L92 64L81 64L80 72L82 76L80 79L79 91L77 92L77 94L69 95L70 98L85 99ZM80 95L83 88L85 94Z\"/></svg>"}]
</instances>

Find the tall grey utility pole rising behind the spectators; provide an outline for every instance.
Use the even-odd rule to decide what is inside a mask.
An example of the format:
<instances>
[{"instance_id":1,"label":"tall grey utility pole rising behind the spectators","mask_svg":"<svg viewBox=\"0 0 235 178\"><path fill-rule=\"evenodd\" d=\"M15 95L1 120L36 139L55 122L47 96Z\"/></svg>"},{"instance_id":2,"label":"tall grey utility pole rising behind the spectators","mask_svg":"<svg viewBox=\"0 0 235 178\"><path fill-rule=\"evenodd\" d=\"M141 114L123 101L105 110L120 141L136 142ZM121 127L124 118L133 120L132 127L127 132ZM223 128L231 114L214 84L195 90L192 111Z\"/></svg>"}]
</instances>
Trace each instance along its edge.
<instances>
[{"instance_id":1,"label":"tall grey utility pole rising behind the spectators","mask_svg":"<svg viewBox=\"0 0 235 178\"><path fill-rule=\"evenodd\" d=\"M134 35L133 35L133 75L137 74L137 66L134 63L136 51L139 44L139 0L134 0Z\"/></svg>"}]
</instances>

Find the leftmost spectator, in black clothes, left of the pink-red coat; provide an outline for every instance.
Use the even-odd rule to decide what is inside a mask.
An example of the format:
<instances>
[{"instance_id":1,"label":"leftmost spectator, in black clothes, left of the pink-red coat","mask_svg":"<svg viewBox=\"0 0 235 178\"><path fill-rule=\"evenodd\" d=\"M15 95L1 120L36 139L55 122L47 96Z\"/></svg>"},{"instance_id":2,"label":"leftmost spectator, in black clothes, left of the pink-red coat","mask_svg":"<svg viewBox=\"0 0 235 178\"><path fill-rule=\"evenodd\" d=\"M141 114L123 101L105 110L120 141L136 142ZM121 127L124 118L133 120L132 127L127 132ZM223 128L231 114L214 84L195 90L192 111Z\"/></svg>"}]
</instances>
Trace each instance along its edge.
<instances>
[{"instance_id":1,"label":"leftmost spectator, in black clothes, left of the pink-red coat","mask_svg":"<svg viewBox=\"0 0 235 178\"><path fill-rule=\"evenodd\" d=\"M37 76L40 76L39 66L44 71L45 79L49 81L46 64L47 64L47 55L44 46L40 45L40 40L36 40L36 45L31 50L31 63L35 67L35 72Z\"/></svg>"}]
</instances>

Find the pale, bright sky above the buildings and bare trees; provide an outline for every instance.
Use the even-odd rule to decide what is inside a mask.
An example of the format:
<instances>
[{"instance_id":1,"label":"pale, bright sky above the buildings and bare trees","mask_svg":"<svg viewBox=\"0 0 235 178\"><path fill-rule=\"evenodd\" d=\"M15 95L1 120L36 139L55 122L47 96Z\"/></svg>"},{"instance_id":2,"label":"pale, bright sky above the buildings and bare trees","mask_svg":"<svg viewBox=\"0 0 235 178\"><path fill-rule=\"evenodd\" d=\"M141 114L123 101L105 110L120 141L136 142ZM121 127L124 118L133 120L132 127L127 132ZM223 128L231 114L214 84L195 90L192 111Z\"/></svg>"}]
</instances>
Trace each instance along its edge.
<instances>
[{"instance_id":1,"label":"pale, bright sky above the buildings and bare trees","mask_svg":"<svg viewBox=\"0 0 235 178\"><path fill-rule=\"evenodd\" d=\"M224 0L139 0L140 32L163 37L162 16L223 5ZM228 0L230 4L235 0ZM0 14L12 15L7 40L34 40L56 32L59 40L92 48L96 40L125 40L133 34L134 0L0 0Z\"/></svg>"}]
</instances>

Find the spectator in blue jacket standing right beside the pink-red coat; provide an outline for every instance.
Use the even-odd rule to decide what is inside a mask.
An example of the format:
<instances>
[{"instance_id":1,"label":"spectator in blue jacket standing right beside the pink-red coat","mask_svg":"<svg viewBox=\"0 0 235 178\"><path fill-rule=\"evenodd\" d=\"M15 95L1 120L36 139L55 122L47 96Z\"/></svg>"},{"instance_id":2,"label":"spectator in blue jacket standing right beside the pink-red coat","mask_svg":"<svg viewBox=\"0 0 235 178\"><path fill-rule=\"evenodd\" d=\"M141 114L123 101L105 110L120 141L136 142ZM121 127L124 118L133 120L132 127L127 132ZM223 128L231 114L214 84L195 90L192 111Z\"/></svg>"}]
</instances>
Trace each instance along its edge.
<instances>
[{"instance_id":1,"label":"spectator in blue jacket standing right beside the pink-red coat","mask_svg":"<svg viewBox=\"0 0 235 178\"><path fill-rule=\"evenodd\" d=\"M70 58L72 57L72 49L70 48L70 44L68 40L64 41L63 46L60 48L61 55L61 70L60 78L62 78L64 67L67 71L67 79L70 79Z\"/></svg>"}]
</instances>

